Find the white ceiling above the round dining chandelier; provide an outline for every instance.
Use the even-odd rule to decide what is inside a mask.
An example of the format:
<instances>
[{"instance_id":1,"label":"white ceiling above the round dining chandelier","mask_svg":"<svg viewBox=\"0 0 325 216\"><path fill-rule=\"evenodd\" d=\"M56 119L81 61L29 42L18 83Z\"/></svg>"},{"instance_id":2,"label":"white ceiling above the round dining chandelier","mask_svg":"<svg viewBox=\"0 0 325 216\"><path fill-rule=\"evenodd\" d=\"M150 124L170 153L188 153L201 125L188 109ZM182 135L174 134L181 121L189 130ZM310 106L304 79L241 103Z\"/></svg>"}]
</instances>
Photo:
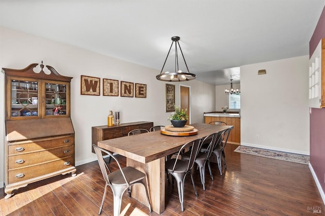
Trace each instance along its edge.
<instances>
[{"instance_id":1,"label":"white ceiling above the round dining chandelier","mask_svg":"<svg viewBox=\"0 0 325 216\"><path fill-rule=\"evenodd\" d=\"M0 0L0 26L159 71L171 37L180 36L189 72L221 85L241 65L308 55L323 6L324 0ZM175 64L170 59L164 70Z\"/></svg>"}]
</instances>

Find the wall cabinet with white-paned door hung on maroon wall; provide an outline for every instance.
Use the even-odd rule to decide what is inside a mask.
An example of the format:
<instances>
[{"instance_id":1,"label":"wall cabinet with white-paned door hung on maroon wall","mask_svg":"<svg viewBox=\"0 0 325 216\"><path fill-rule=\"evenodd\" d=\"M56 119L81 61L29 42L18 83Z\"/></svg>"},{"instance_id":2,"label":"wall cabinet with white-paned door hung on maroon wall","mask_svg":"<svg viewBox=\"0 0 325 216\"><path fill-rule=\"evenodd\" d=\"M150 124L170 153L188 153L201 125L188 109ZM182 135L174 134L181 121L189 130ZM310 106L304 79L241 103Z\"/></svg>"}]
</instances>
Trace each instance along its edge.
<instances>
[{"instance_id":1,"label":"wall cabinet with white-paned door hung on maroon wall","mask_svg":"<svg viewBox=\"0 0 325 216\"><path fill-rule=\"evenodd\" d=\"M309 59L309 107L325 107L325 38Z\"/></svg>"}]
</instances>

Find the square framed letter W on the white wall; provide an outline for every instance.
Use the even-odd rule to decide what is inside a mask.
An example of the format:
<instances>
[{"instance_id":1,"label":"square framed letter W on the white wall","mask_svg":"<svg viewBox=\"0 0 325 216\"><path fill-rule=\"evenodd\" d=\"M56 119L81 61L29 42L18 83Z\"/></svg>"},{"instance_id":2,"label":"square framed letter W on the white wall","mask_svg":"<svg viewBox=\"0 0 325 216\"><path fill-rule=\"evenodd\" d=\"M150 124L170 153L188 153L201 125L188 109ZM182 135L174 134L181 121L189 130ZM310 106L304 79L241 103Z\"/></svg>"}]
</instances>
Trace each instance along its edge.
<instances>
[{"instance_id":1,"label":"square framed letter W on the white wall","mask_svg":"<svg viewBox=\"0 0 325 216\"><path fill-rule=\"evenodd\" d=\"M101 78L81 75L81 95L101 95Z\"/></svg>"}]
</instances>

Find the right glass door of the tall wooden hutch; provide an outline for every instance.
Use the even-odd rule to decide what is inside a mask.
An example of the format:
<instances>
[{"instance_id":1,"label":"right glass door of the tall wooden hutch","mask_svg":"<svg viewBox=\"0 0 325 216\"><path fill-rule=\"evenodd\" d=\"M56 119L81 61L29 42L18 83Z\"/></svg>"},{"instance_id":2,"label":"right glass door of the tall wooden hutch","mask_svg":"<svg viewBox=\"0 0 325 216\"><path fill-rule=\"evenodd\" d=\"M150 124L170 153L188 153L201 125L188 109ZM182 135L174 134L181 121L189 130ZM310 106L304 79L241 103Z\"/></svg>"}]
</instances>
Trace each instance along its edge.
<instances>
[{"instance_id":1,"label":"right glass door of the tall wooden hutch","mask_svg":"<svg viewBox=\"0 0 325 216\"><path fill-rule=\"evenodd\" d=\"M67 85L45 83L45 116L67 115Z\"/></svg>"}]
</instances>

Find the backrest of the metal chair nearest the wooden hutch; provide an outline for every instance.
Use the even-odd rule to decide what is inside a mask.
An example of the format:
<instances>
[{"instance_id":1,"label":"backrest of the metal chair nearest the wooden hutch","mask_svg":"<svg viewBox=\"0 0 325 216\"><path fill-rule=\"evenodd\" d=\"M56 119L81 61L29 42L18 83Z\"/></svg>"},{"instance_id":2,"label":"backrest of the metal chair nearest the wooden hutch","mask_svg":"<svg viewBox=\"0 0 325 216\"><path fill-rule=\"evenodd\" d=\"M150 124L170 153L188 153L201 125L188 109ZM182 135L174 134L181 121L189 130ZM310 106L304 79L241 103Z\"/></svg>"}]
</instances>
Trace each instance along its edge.
<instances>
[{"instance_id":1,"label":"backrest of the metal chair nearest the wooden hutch","mask_svg":"<svg viewBox=\"0 0 325 216\"><path fill-rule=\"evenodd\" d=\"M110 180L109 180L109 178L108 178L108 174L111 173L111 170L110 170L110 168L108 167L107 163L106 163L105 160L104 160L104 157L103 157L103 154L102 154L103 152L106 153L106 154L108 154L111 158L113 158L113 159L116 161L116 163L117 163L117 165L118 165L118 168L119 168L119 170L121 171L121 174L122 174L122 176L123 176L123 179L124 179L126 185L129 186L129 183L127 182L127 180L126 180L126 178L125 178L125 175L124 175L124 172L123 172L123 170L122 170L122 167L121 167L120 163L118 162L118 160L113 156L113 154L110 153L109 151L106 151L105 149L103 149L103 148L101 148L101 147L96 146L96 145L92 145L92 146L93 146L93 149L95 150L95 153L96 153L96 155L97 155L98 163L100 164L100 167L101 167L101 171L102 171L102 174L103 174L103 178L104 178L104 180L105 180L109 185L111 185ZM108 172L108 173L107 173L107 172Z\"/></svg>"}]
</instances>

